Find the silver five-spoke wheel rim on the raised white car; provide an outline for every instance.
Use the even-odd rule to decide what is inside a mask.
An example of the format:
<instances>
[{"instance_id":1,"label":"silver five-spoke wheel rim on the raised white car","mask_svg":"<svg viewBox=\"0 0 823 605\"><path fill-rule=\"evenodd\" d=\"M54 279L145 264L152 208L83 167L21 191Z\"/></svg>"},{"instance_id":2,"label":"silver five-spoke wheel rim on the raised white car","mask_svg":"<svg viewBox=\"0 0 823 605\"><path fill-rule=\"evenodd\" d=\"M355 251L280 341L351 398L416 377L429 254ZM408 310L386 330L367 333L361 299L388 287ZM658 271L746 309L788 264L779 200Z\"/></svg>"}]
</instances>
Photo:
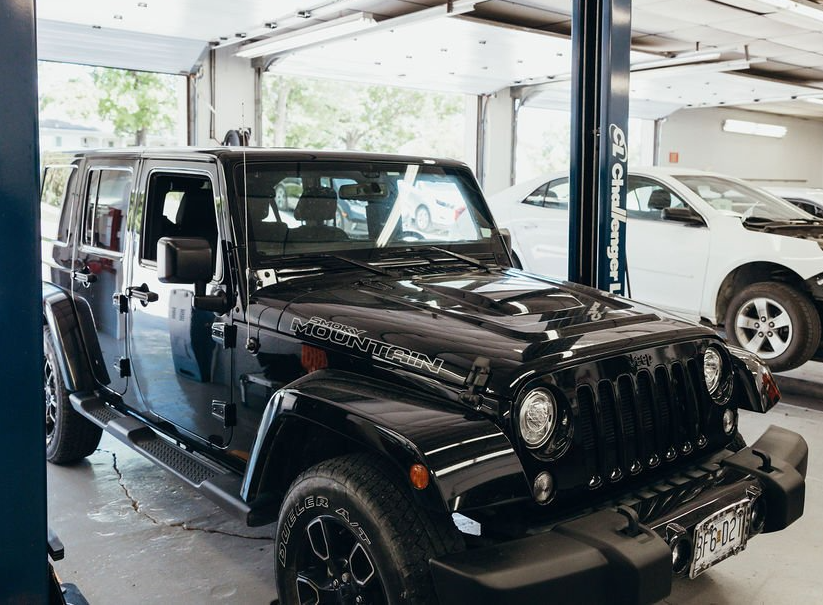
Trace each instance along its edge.
<instances>
[{"instance_id":1,"label":"silver five-spoke wheel rim on the raised white car","mask_svg":"<svg viewBox=\"0 0 823 605\"><path fill-rule=\"evenodd\" d=\"M746 350L763 359L774 359L789 348L794 326L783 305L772 298L758 297L738 309L734 333Z\"/></svg>"}]
</instances>

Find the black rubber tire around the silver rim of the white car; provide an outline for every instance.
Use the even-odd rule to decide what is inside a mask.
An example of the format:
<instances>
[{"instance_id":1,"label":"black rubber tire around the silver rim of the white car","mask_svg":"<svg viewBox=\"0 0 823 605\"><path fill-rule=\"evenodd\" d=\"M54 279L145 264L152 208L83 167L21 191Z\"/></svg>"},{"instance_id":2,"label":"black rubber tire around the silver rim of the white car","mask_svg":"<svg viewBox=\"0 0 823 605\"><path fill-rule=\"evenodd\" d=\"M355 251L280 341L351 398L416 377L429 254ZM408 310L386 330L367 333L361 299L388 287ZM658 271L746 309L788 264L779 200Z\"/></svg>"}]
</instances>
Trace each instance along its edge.
<instances>
[{"instance_id":1,"label":"black rubber tire around the silver rim of the white car","mask_svg":"<svg viewBox=\"0 0 823 605\"><path fill-rule=\"evenodd\" d=\"M808 296L781 282L757 282L746 286L734 296L726 309L727 338L731 342L739 344L737 337L734 335L737 309L744 300L758 296L773 298L780 302L794 321L792 326L793 337L797 339L798 344L792 343L789 345L789 350L781 356L782 358L764 360L772 371L790 370L811 359L818 346L820 346L820 315ZM794 350L792 351L792 349Z\"/></svg>"}]
</instances>

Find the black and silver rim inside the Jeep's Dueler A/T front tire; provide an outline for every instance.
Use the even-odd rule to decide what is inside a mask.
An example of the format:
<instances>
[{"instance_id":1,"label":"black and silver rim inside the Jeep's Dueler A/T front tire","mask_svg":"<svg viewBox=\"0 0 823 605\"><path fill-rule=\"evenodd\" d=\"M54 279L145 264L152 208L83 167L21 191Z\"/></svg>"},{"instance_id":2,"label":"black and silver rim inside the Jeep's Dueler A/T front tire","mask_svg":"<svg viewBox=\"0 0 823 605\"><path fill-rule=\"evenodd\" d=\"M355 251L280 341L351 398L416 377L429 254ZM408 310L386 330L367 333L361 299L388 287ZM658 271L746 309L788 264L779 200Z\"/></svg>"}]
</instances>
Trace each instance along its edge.
<instances>
[{"instance_id":1,"label":"black and silver rim inside the Jeep's Dueler A/T front tire","mask_svg":"<svg viewBox=\"0 0 823 605\"><path fill-rule=\"evenodd\" d=\"M334 517L317 517L301 536L295 578L301 605L387 603L371 553Z\"/></svg>"}]
</instances>

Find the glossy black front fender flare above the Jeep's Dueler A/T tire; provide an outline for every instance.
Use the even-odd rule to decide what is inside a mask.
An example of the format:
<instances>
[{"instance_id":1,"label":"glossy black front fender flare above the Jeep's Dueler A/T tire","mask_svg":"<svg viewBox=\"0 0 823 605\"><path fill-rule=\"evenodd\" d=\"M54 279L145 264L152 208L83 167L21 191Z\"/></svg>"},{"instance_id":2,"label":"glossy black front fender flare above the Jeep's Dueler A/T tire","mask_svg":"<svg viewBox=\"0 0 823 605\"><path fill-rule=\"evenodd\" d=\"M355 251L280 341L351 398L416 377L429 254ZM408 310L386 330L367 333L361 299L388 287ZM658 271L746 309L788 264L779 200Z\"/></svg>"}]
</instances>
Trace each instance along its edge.
<instances>
[{"instance_id":1,"label":"glossy black front fender flare above the Jeep's Dueler A/T tire","mask_svg":"<svg viewBox=\"0 0 823 605\"><path fill-rule=\"evenodd\" d=\"M429 485L412 492L432 510L459 512L531 498L515 448L488 417L379 380L323 370L270 400L250 453L244 500L281 501L296 475L319 462L309 461L285 476L277 472L301 445L290 438L297 426L342 438L352 448L348 451L372 452L407 481L411 465L423 464ZM304 433L298 434L303 439ZM329 457L342 453L330 451Z\"/></svg>"}]
</instances>

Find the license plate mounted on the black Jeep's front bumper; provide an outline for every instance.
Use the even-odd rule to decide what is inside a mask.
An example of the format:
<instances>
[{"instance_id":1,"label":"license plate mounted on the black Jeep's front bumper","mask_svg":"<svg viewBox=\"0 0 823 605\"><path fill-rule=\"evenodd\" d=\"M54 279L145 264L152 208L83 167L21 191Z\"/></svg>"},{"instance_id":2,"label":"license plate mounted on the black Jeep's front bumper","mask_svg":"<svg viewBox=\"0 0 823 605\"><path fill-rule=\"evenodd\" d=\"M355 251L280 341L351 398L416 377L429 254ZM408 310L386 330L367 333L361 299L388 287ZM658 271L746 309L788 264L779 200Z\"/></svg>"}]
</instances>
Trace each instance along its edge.
<instances>
[{"instance_id":1,"label":"license plate mounted on the black Jeep's front bumper","mask_svg":"<svg viewBox=\"0 0 823 605\"><path fill-rule=\"evenodd\" d=\"M694 528L694 558L689 577L697 577L746 548L748 525L749 500L732 504L698 523Z\"/></svg>"}]
</instances>

